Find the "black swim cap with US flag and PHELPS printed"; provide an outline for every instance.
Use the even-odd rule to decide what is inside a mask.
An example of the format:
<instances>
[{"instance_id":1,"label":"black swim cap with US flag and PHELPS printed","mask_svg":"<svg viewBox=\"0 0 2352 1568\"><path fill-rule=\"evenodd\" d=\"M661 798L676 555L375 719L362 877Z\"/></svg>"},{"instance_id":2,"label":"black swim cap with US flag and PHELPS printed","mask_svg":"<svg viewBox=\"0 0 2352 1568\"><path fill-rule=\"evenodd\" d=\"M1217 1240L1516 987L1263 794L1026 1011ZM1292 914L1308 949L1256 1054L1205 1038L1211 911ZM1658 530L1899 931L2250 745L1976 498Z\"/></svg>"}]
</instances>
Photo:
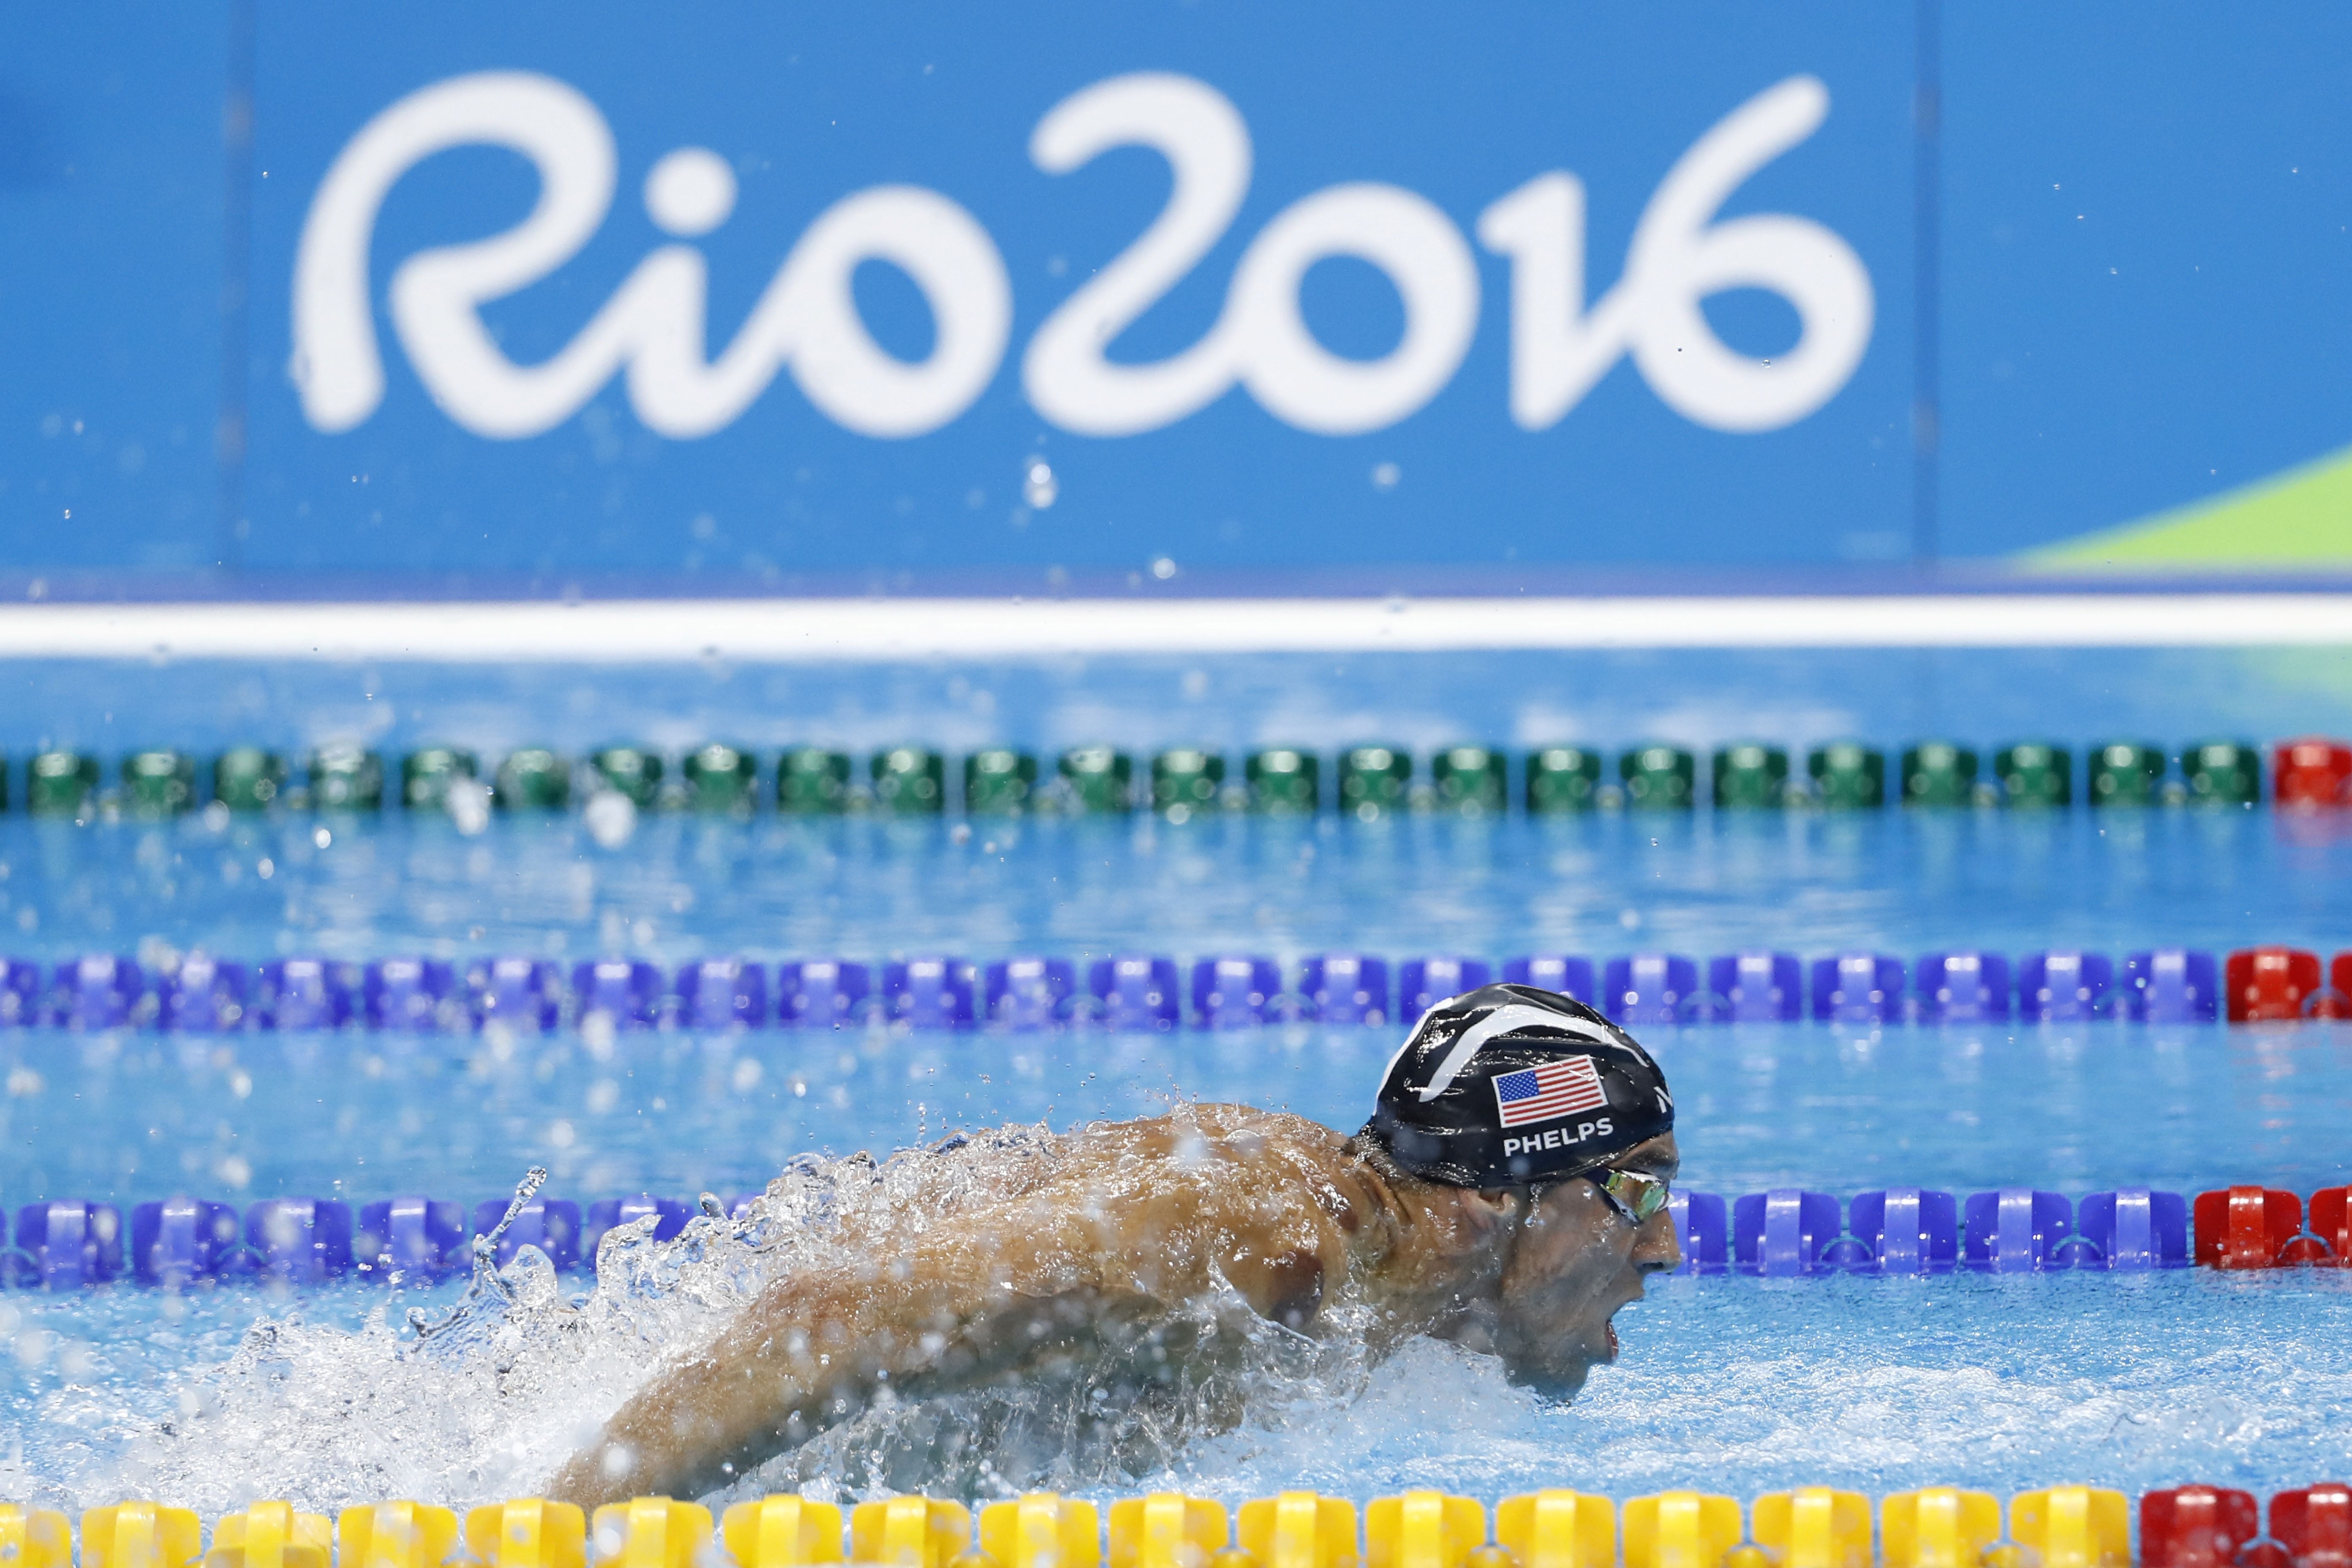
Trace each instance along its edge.
<instances>
[{"instance_id":1,"label":"black swim cap with US flag and PHELPS printed","mask_svg":"<svg viewBox=\"0 0 2352 1568\"><path fill-rule=\"evenodd\" d=\"M1482 985L1428 1011L1362 1135L1432 1182L1526 1187L1672 1128L1675 1095L1632 1034L1559 992Z\"/></svg>"}]
</instances>

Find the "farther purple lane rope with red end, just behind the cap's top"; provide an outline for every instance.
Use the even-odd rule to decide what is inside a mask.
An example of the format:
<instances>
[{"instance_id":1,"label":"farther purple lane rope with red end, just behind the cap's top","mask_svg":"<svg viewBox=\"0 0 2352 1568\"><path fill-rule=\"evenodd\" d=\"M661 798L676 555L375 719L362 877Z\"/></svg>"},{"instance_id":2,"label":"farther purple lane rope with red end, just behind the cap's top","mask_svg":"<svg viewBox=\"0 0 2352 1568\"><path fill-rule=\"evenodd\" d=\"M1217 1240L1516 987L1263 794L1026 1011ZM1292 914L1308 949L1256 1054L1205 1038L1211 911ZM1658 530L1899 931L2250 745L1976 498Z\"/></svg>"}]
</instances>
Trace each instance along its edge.
<instances>
[{"instance_id":1,"label":"farther purple lane rope with red end, just behind the cap's top","mask_svg":"<svg viewBox=\"0 0 2352 1568\"><path fill-rule=\"evenodd\" d=\"M42 966L0 957L0 1027L195 1034L245 1030L548 1032L915 1030L1120 1032L1244 1030L1284 1023L1397 1025L1496 978L1557 990L1625 1027L1705 1023L1999 1025L1999 1023L2296 1023L2352 1018L2352 950L2321 966L2284 945L2230 954L2150 947L2124 954L2030 952L2011 966L1987 950L1926 952L1632 952L1595 964L1571 952L1494 964L1465 954L1390 961L1367 952L1270 954L1127 952L1091 959L1021 954L971 961L917 954L868 964L741 957L470 961L287 957L266 964L191 952L162 966L82 954Z\"/></svg>"}]
</instances>

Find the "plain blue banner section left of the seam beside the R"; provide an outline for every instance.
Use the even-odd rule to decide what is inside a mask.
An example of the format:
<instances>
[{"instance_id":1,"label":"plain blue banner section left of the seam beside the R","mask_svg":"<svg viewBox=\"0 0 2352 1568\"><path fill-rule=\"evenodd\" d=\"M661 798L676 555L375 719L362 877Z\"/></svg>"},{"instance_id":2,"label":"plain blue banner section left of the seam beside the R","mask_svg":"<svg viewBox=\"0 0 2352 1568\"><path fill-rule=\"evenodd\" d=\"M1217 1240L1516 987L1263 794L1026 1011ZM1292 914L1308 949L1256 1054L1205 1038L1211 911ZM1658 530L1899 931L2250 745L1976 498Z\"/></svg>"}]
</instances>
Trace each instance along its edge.
<instances>
[{"instance_id":1,"label":"plain blue banner section left of the seam beside the R","mask_svg":"<svg viewBox=\"0 0 2352 1568\"><path fill-rule=\"evenodd\" d=\"M0 564L221 559L228 16L24 7L0 52ZM228 433L235 463L235 433Z\"/></svg>"}]
</instances>

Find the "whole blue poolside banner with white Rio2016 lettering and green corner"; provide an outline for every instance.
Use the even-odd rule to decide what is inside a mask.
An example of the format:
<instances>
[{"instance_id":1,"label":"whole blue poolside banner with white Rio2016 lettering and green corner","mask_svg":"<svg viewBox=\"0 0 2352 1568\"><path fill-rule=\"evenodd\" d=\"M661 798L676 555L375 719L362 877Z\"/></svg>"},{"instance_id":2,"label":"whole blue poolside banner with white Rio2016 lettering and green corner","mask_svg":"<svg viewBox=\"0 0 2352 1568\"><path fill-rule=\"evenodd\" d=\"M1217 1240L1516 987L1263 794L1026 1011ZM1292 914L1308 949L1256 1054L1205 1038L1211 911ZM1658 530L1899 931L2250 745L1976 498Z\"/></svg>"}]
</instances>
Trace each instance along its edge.
<instances>
[{"instance_id":1,"label":"whole blue poolside banner with white Rio2016 lettering and green corner","mask_svg":"<svg viewBox=\"0 0 2352 1568\"><path fill-rule=\"evenodd\" d=\"M2324 557L2352 24L2293 9L49 14L0 567Z\"/></svg>"}]
</instances>

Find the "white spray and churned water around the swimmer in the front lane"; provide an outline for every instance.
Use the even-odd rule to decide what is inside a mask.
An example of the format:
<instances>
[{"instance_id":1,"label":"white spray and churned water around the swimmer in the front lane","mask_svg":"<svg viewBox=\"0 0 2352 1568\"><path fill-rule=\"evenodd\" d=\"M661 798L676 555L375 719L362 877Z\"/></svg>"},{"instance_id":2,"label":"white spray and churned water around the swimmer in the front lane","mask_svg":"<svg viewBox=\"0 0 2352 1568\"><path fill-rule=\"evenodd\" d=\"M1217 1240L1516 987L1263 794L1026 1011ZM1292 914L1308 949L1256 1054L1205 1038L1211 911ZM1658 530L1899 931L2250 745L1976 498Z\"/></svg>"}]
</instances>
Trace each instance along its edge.
<instances>
[{"instance_id":1,"label":"white spray and churned water around the swimmer in the front lane","mask_svg":"<svg viewBox=\"0 0 2352 1568\"><path fill-rule=\"evenodd\" d=\"M47 1507L259 1497L336 1509L539 1490L670 1359L783 1274L870 1276L875 1237L920 1241L1047 1185L1044 1128L950 1138L887 1161L800 1159L741 1220L715 1199L673 1241L607 1234L597 1284L564 1295L520 1248L475 1255L456 1309L360 1331L287 1314L176 1385L68 1385L38 1460L0 1432L0 1493ZM517 1199L536 1190L524 1178ZM1117 1175L1103 1187L1117 1201ZM997 1208L1002 1213L1002 1208ZM990 1497L1183 1488L1228 1502L1310 1486L1501 1497L1578 1486L1630 1497L1705 1483L1884 1493L2053 1479L2126 1490L2183 1474L2256 1490L2336 1469L2347 1441L2352 1279L2333 1269L1832 1281L1677 1279L1628 1319L1628 1354L1576 1406L1498 1363L1414 1340L1388 1359L1348 1300L1308 1340L1211 1293L1138 1340L985 1389L882 1394L739 1476L769 1490ZM14 1439L14 1443L12 1443Z\"/></svg>"}]
</instances>

